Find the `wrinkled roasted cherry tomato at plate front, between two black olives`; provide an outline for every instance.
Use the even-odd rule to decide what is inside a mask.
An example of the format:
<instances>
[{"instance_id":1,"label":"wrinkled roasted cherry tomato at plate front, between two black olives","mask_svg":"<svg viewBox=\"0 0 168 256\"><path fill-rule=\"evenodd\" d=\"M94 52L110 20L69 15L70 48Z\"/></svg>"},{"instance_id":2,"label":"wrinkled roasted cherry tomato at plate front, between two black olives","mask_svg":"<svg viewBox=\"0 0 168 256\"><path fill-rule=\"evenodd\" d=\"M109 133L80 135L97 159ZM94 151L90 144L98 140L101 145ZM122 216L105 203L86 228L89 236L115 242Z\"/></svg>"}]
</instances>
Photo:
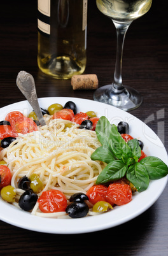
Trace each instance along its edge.
<instances>
[{"instance_id":1,"label":"wrinkled roasted cherry tomato at plate front, between two black olives","mask_svg":"<svg viewBox=\"0 0 168 256\"><path fill-rule=\"evenodd\" d=\"M39 210L43 213L66 211L67 199L64 194L55 189L44 191L38 199Z\"/></svg>"}]
</instances>

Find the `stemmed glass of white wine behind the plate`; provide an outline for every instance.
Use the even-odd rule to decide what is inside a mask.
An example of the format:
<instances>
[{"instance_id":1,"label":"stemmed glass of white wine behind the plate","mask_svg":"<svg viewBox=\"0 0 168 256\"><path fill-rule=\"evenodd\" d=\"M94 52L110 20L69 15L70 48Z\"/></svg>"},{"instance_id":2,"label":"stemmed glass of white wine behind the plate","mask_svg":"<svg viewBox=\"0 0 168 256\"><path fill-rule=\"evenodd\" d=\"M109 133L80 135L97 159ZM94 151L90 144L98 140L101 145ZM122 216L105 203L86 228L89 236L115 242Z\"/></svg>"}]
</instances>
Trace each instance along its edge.
<instances>
[{"instance_id":1,"label":"stemmed glass of white wine behind the plate","mask_svg":"<svg viewBox=\"0 0 168 256\"><path fill-rule=\"evenodd\" d=\"M125 34L129 25L136 18L150 10L152 0L96 0L97 8L111 18L116 27L116 64L114 81L95 90L94 100L113 105L122 110L138 108L143 97L122 83L122 55Z\"/></svg>"}]
</instances>

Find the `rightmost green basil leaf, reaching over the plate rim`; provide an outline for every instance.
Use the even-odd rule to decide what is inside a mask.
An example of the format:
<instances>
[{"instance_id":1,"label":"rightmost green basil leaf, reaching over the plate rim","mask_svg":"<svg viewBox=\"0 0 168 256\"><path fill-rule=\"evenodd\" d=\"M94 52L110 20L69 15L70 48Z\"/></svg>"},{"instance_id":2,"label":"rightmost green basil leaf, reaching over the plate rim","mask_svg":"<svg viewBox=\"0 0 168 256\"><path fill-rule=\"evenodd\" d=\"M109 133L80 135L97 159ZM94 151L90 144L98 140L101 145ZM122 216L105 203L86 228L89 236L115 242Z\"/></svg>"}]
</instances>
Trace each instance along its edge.
<instances>
[{"instance_id":1,"label":"rightmost green basil leaf, reaching over the plate rim","mask_svg":"<svg viewBox=\"0 0 168 256\"><path fill-rule=\"evenodd\" d=\"M146 167L150 180L158 180L168 174L167 165L158 157L144 157L140 163Z\"/></svg>"}]
</instances>

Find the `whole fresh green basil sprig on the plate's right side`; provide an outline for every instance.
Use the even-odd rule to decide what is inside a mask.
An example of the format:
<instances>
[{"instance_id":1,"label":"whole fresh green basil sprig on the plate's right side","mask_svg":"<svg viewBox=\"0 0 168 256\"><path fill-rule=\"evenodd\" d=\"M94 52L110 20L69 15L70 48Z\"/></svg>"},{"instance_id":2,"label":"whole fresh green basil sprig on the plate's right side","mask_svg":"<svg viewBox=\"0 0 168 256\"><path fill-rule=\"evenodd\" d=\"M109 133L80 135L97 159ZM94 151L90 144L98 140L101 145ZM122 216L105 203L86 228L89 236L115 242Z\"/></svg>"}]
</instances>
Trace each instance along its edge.
<instances>
[{"instance_id":1,"label":"whole fresh green basil sprig on the plate's right side","mask_svg":"<svg viewBox=\"0 0 168 256\"><path fill-rule=\"evenodd\" d=\"M150 180L158 180L168 174L167 165L158 157L145 157L138 162L141 148L137 139L126 143L116 125L111 125L106 117L99 119L95 132L102 146L92 153L91 159L108 164L97 177L96 184L126 176L138 192L142 192L148 188Z\"/></svg>"}]
</instances>

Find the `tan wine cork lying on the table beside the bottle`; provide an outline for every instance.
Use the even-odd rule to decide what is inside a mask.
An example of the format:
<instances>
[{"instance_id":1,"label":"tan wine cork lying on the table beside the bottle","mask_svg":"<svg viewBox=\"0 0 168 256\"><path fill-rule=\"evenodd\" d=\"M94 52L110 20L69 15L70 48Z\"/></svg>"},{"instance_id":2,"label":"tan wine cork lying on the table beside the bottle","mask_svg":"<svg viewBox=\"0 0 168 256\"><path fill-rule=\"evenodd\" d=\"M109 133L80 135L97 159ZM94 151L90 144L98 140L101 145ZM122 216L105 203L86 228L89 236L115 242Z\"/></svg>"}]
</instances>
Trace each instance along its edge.
<instances>
[{"instance_id":1,"label":"tan wine cork lying on the table beside the bottle","mask_svg":"<svg viewBox=\"0 0 168 256\"><path fill-rule=\"evenodd\" d=\"M98 88L99 81L97 75L74 75L71 78L73 90L95 90Z\"/></svg>"}]
</instances>

